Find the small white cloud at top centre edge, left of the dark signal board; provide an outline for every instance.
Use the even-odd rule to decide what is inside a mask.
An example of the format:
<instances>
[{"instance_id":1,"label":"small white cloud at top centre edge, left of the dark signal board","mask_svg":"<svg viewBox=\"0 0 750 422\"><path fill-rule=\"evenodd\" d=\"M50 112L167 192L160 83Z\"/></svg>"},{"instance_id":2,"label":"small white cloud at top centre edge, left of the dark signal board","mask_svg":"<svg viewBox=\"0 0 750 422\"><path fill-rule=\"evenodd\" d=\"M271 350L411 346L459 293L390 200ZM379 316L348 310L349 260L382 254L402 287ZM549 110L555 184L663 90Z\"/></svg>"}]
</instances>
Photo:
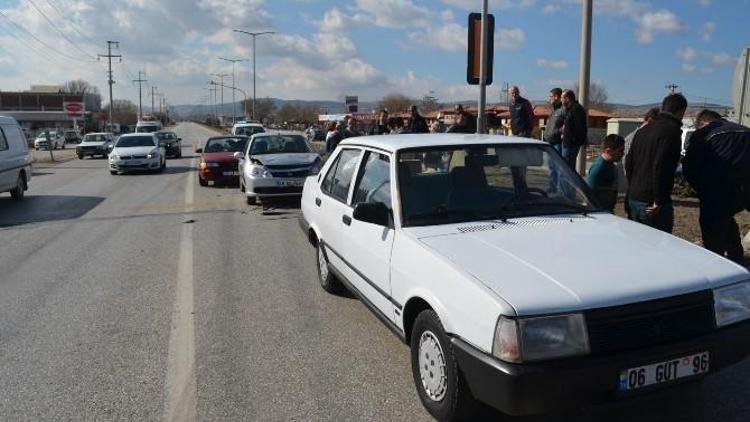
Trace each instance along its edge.
<instances>
[{"instance_id":1,"label":"small white cloud at top centre edge, left of the dark signal board","mask_svg":"<svg viewBox=\"0 0 750 422\"><path fill-rule=\"evenodd\" d=\"M356 5L384 28L424 28L433 20L430 9L411 0L356 0Z\"/></svg>"}]
</instances>

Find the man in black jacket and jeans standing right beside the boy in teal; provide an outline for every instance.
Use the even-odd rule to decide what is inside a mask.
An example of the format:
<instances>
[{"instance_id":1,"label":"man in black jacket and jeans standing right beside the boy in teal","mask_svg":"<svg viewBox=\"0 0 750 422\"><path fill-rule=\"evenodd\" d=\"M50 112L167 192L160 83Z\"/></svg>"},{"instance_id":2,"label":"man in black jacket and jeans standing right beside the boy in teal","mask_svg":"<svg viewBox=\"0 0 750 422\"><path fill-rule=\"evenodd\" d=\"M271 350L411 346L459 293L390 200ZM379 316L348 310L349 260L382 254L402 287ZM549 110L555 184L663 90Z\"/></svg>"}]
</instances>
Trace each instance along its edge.
<instances>
[{"instance_id":1,"label":"man in black jacket and jeans standing right beside the boy in teal","mask_svg":"<svg viewBox=\"0 0 750 422\"><path fill-rule=\"evenodd\" d=\"M674 173L682 149L682 118L687 100L682 94L664 98L661 113L638 130L625 161L630 219L672 233Z\"/></svg>"}]
</instances>

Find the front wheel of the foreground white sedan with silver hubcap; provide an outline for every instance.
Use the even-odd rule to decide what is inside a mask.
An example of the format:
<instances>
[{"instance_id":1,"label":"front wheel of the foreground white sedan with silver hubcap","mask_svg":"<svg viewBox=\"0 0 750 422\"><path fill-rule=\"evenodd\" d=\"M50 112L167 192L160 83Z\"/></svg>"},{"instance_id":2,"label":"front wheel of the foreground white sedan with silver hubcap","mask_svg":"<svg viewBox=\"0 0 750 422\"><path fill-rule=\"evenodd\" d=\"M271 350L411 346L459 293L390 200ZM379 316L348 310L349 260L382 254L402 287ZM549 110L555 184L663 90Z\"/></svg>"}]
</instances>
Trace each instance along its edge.
<instances>
[{"instance_id":1,"label":"front wheel of the foreground white sedan with silver hubcap","mask_svg":"<svg viewBox=\"0 0 750 422\"><path fill-rule=\"evenodd\" d=\"M411 367L419 398L428 412L439 421L469 419L476 401L463 379L435 311L422 311L414 321L411 334Z\"/></svg>"}]
</instances>

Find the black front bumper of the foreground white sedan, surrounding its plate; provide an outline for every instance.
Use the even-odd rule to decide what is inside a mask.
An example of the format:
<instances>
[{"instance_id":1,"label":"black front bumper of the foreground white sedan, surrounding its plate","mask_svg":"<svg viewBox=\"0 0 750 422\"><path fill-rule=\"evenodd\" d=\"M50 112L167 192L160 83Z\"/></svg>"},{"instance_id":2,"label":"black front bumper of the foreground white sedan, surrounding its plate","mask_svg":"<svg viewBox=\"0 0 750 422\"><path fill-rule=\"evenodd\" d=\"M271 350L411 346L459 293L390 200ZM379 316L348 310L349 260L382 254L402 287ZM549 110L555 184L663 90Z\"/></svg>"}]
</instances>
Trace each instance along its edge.
<instances>
[{"instance_id":1,"label":"black front bumper of the foreground white sedan, surrounding its plate","mask_svg":"<svg viewBox=\"0 0 750 422\"><path fill-rule=\"evenodd\" d=\"M642 396L701 379L750 354L750 321L679 343L607 356L527 364L502 362L457 337L453 337L451 342L458 366L474 397L509 415L532 415ZM634 392L618 392L620 372L623 370L704 351L710 355L708 374Z\"/></svg>"}]
</instances>

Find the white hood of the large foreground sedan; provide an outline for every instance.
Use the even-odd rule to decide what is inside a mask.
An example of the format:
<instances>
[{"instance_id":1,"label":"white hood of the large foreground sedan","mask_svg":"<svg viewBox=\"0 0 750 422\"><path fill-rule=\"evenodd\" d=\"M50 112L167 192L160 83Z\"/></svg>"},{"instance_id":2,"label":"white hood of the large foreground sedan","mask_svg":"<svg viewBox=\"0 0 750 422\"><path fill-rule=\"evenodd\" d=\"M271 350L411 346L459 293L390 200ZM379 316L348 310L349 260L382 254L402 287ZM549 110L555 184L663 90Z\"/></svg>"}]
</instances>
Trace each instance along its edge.
<instances>
[{"instance_id":1,"label":"white hood of the large foreground sedan","mask_svg":"<svg viewBox=\"0 0 750 422\"><path fill-rule=\"evenodd\" d=\"M519 316L623 305L750 278L699 246L609 214L405 230Z\"/></svg>"}]
</instances>

